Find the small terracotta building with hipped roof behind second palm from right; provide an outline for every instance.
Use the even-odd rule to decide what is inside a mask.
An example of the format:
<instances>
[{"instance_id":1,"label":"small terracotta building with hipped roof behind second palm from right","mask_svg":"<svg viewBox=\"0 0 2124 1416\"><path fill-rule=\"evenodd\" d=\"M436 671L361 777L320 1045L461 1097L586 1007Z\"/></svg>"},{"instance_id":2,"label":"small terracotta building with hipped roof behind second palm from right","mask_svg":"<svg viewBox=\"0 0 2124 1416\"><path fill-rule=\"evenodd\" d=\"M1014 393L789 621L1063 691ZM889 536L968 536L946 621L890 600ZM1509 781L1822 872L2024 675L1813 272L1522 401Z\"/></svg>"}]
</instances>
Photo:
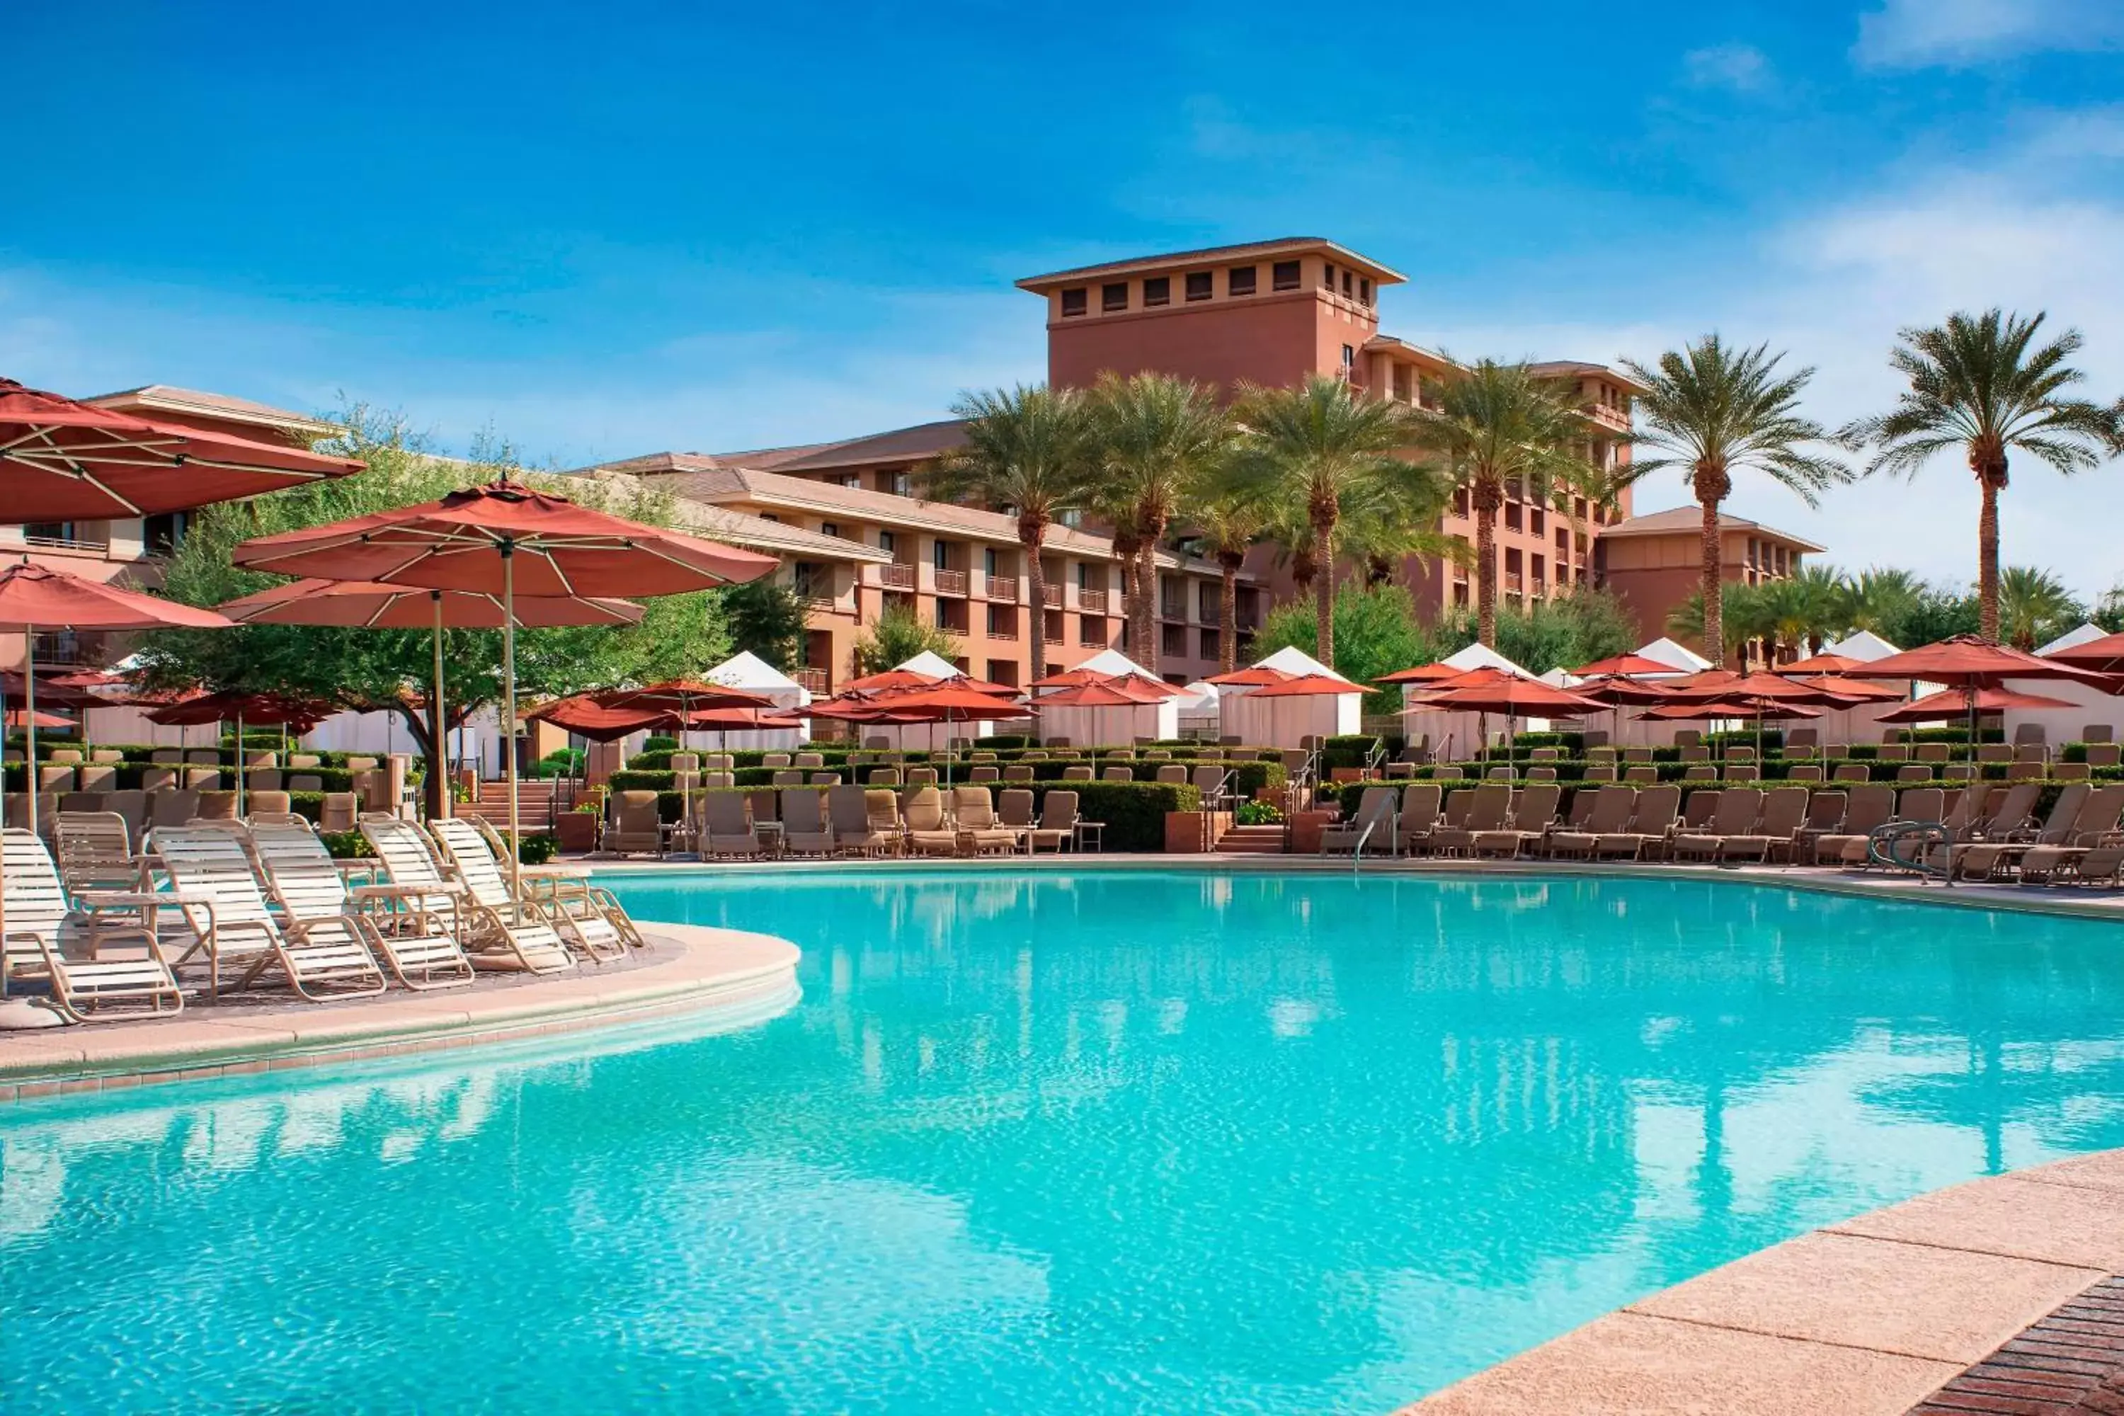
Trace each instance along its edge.
<instances>
[{"instance_id":1,"label":"small terracotta building with hipped roof behind second palm from right","mask_svg":"<svg viewBox=\"0 0 2124 1416\"><path fill-rule=\"evenodd\" d=\"M1718 514L1718 560L1727 580L1759 586L1791 580L1820 546L1746 516ZM1593 543L1593 575L1638 620L1638 633L1667 633L1667 614L1703 586L1703 512L1674 507L1614 522ZM1697 645L1701 647L1701 645Z\"/></svg>"}]
</instances>

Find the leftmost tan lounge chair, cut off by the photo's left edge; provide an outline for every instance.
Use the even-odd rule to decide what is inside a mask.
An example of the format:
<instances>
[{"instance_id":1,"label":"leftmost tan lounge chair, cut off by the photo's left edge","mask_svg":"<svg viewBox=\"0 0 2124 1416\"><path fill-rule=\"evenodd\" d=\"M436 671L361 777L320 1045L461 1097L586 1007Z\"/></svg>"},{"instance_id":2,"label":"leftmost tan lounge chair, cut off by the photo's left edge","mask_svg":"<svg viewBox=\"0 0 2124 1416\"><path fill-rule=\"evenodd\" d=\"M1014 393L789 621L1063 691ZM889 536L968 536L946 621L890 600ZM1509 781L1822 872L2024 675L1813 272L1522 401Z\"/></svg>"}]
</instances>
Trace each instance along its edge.
<instances>
[{"instance_id":1,"label":"leftmost tan lounge chair, cut off by the photo's left edge","mask_svg":"<svg viewBox=\"0 0 2124 1416\"><path fill-rule=\"evenodd\" d=\"M144 928L130 930L140 957L72 957L62 947L62 932L72 911L66 890L51 864L45 843L28 830L0 830L0 913L6 934L0 936L0 996L11 994L15 979L42 979L51 989L45 1006L70 1023L104 1017L110 1004L147 1004L149 1013L183 1013L185 996L161 960L155 936ZM119 930L98 932L98 953ZM113 1017L136 1017L117 1013Z\"/></svg>"}]
</instances>

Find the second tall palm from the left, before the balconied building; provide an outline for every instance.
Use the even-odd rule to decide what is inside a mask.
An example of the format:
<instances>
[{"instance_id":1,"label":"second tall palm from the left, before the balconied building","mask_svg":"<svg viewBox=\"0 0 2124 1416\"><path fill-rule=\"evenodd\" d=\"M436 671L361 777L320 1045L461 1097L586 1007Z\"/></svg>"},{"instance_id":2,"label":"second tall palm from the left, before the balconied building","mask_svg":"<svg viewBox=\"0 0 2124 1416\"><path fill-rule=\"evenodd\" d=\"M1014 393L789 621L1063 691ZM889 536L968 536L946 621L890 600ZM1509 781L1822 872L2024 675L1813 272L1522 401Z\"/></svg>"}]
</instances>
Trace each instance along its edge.
<instances>
[{"instance_id":1,"label":"second tall palm from the left, before the balconied building","mask_svg":"<svg viewBox=\"0 0 2124 1416\"><path fill-rule=\"evenodd\" d=\"M1128 605L1136 660L1158 669L1158 546L1185 488L1217 465L1232 420L1213 388L1170 374L1098 376L1090 399L1092 437L1104 473L1100 495L1126 505L1138 537L1134 599Z\"/></svg>"}]
</instances>

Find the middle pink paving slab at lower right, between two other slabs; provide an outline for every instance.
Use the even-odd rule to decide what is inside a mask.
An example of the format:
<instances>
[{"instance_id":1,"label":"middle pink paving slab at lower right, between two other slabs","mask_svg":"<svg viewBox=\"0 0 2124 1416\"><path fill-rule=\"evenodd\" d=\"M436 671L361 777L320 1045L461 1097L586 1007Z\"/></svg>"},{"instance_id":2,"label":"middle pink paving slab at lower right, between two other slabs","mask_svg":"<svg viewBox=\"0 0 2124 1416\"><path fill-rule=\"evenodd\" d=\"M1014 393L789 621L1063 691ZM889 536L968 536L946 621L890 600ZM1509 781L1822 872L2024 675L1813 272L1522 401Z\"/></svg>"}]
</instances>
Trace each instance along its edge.
<instances>
[{"instance_id":1,"label":"middle pink paving slab at lower right, between two other slabs","mask_svg":"<svg viewBox=\"0 0 2124 1416\"><path fill-rule=\"evenodd\" d=\"M1629 1312L1969 1365L2099 1278L2088 1267L1810 1233Z\"/></svg>"}]
</instances>

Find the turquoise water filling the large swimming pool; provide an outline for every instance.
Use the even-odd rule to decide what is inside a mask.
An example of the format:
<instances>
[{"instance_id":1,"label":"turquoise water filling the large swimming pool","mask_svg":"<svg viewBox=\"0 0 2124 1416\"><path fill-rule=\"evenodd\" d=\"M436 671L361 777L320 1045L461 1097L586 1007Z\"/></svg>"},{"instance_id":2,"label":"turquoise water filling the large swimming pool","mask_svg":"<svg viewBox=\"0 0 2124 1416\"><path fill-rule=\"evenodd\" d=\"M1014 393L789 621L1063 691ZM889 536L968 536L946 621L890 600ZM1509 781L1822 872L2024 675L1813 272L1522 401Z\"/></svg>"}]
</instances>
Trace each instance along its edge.
<instances>
[{"instance_id":1,"label":"turquoise water filling the large swimming pool","mask_svg":"<svg viewBox=\"0 0 2124 1416\"><path fill-rule=\"evenodd\" d=\"M724 1036L0 1108L0 1410L1387 1412L2124 1144L2124 932L1731 883L620 883Z\"/></svg>"}]
</instances>

